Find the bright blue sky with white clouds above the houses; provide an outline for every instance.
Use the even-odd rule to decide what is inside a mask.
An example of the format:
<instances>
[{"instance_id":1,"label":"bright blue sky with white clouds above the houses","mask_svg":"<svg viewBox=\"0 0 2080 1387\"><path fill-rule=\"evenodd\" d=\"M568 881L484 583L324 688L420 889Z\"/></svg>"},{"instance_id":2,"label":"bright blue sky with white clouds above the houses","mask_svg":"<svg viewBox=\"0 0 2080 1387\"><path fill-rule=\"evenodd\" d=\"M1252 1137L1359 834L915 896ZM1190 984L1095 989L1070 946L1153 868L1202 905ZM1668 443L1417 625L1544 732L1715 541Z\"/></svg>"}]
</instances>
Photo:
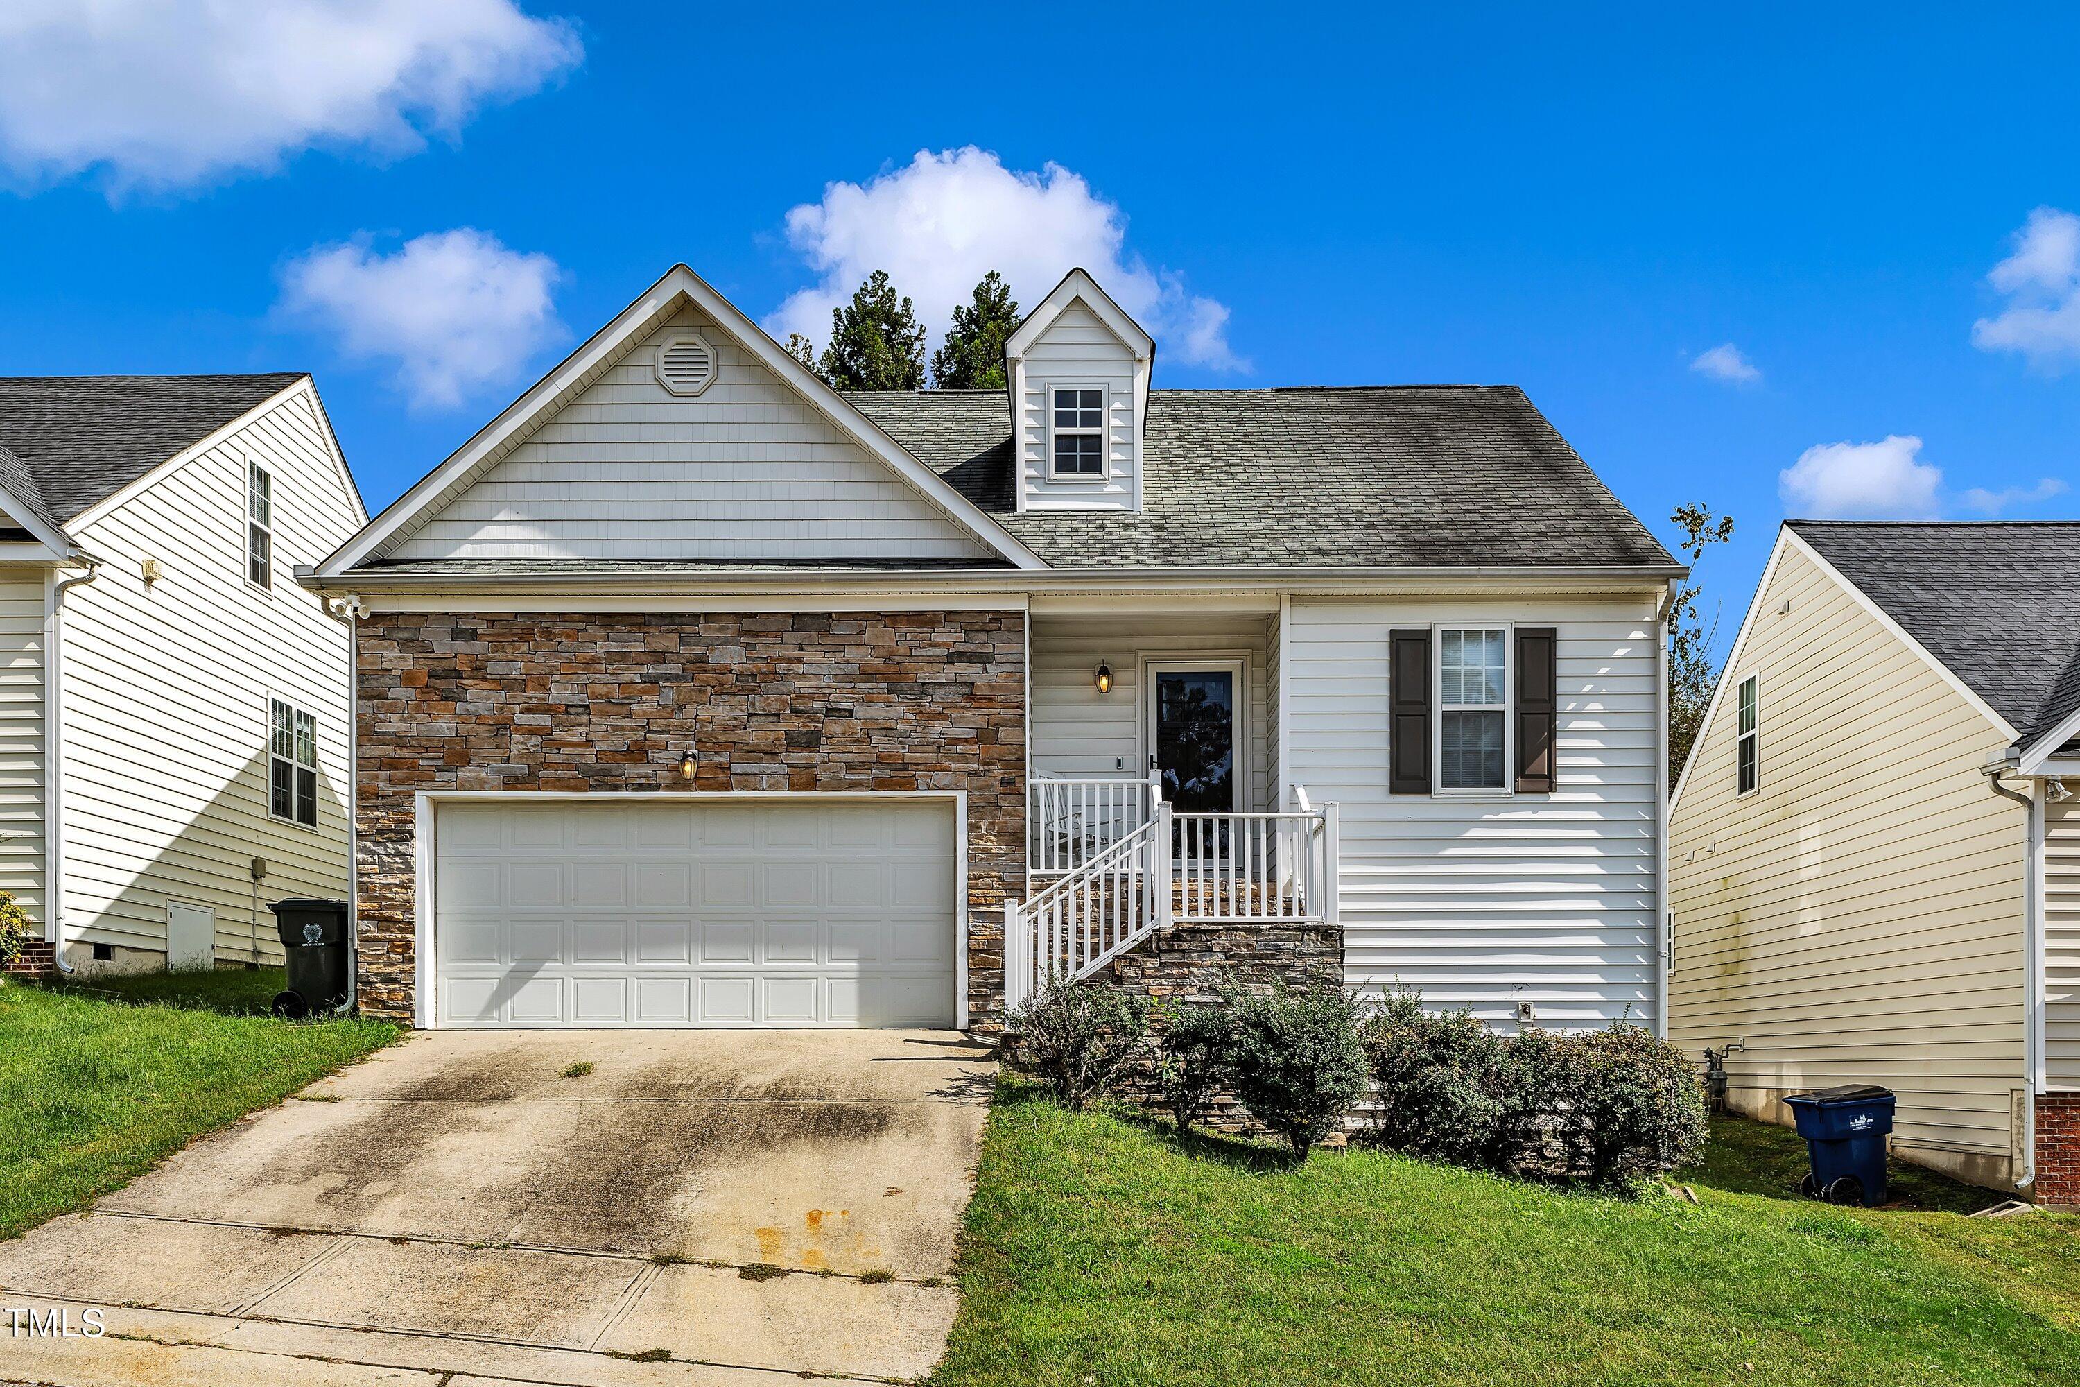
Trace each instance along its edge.
<instances>
[{"instance_id":1,"label":"bright blue sky with white clouds above the houses","mask_svg":"<svg viewBox=\"0 0 2080 1387\"><path fill-rule=\"evenodd\" d=\"M1737 518L1728 624L1787 507L2076 514L2070 10L73 8L0 17L0 370L312 370L372 507L676 260L784 329L1111 256L1159 385L1523 385Z\"/></svg>"}]
</instances>

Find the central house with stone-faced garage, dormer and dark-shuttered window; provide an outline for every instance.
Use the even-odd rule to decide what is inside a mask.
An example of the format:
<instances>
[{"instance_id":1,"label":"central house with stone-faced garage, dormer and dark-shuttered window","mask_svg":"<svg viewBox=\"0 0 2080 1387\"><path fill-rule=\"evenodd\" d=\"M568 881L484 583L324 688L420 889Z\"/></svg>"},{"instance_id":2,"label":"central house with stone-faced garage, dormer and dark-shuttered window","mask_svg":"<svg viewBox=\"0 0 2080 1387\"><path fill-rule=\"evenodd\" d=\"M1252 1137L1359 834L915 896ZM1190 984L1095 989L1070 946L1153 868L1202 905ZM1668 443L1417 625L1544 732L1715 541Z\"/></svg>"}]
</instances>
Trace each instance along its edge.
<instances>
[{"instance_id":1,"label":"central house with stone-faced garage, dormer and dark-shuttered window","mask_svg":"<svg viewBox=\"0 0 2080 1387\"><path fill-rule=\"evenodd\" d=\"M1298 959L1656 1019L1683 570L1525 395L1152 389L1082 270L1007 366L840 395L678 266L306 576L364 1011L990 1029Z\"/></svg>"}]
</instances>

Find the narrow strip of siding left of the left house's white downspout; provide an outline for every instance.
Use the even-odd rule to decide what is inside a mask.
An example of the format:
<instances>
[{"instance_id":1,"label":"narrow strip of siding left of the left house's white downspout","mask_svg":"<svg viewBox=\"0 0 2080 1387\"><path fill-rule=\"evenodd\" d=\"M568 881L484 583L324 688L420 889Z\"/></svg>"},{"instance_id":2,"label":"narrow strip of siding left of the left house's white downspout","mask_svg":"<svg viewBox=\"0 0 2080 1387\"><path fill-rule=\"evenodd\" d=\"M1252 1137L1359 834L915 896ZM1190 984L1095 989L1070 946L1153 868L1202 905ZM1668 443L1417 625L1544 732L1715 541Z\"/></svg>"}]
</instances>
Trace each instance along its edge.
<instances>
[{"instance_id":1,"label":"narrow strip of siding left of the left house's white downspout","mask_svg":"<svg viewBox=\"0 0 2080 1387\"><path fill-rule=\"evenodd\" d=\"M44 925L42 568L0 568L0 890Z\"/></svg>"}]
</instances>

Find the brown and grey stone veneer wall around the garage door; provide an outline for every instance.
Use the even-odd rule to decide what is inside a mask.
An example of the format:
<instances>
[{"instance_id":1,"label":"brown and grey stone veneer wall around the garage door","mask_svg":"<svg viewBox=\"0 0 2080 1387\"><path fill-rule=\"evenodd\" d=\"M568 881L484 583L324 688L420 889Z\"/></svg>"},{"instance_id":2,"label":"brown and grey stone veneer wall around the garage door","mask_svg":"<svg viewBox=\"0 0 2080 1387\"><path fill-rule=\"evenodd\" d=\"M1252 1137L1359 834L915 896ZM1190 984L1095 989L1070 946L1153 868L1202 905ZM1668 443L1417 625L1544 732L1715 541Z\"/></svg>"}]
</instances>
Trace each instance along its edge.
<instances>
[{"instance_id":1,"label":"brown and grey stone veneer wall around the garage door","mask_svg":"<svg viewBox=\"0 0 2080 1387\"><path fill-rule=\"evenodd\" d=\"M379 613L358 626L360 1006L412 1019L420 790L967 790L969 1013L1025 871L1025 618Z\"/></svg>"}]
</instances>

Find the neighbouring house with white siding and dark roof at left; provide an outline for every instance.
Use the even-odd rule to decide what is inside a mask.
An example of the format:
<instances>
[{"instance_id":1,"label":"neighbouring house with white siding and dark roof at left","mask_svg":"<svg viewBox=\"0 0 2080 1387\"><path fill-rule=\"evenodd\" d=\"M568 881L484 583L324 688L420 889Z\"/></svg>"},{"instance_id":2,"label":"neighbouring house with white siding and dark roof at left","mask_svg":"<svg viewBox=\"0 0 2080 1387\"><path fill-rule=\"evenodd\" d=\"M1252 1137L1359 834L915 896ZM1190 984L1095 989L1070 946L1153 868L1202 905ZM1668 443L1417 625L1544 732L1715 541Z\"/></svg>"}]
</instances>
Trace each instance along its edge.
<instances>
[{"instance_id":1,"label":"neighbouring house with white siding and dark roof at left","mask_svg":"<svg viewBox=\"0 0 2080 1387\"><path fill-rule=\"evenodd\" d=\"M0 888L62 967L279 959L347 892L366 512L304 374L0 378Z\"/></svg>"}]
</instances>

